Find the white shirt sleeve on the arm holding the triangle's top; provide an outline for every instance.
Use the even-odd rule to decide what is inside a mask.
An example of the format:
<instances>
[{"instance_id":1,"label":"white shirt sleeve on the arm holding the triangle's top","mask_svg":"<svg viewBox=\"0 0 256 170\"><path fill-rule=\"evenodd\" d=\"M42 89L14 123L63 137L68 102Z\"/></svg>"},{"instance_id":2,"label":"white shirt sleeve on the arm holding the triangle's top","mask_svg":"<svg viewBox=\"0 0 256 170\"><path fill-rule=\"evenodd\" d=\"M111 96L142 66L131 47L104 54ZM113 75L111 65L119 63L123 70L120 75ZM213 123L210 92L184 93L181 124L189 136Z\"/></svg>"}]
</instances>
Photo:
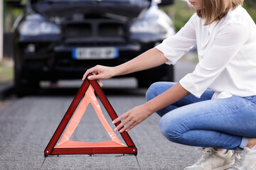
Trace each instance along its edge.
<instances>
[{"instance_id":1,"label":"white shirt sleeve on the arm holding the triangle's top","mask_svg":"<svg viewBox=\"0 0 256 170\"><path fill-rule=\"evenodd\" d=\"M196 31L194 26L196 13L181 28L181 30L166 38L156 49L163 52L164 56L169 60L166 64L175 64L186 52L196 44Z\"/></svg>"}]
</instances>

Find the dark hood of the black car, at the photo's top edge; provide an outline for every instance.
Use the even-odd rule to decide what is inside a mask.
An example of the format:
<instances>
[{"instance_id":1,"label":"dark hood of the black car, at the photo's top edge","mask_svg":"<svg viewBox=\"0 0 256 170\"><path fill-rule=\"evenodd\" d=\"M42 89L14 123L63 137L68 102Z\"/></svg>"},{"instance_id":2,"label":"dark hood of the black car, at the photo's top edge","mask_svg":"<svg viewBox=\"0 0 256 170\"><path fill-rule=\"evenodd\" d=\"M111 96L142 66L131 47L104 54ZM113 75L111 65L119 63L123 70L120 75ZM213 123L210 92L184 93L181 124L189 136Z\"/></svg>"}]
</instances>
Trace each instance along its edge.
<instances>
[{"instance_id":1,"label":"dark hood of the black car, at the photo's top edge","mask_svg":"<svg viewBox=\"0 0 256 170\"><path fill-rule=\"evenodd\" d=\"M134 18L149 8L150 3L148 0L31 0L31 6L47 17L107 13Z\"/></svg>"}]
</instances>

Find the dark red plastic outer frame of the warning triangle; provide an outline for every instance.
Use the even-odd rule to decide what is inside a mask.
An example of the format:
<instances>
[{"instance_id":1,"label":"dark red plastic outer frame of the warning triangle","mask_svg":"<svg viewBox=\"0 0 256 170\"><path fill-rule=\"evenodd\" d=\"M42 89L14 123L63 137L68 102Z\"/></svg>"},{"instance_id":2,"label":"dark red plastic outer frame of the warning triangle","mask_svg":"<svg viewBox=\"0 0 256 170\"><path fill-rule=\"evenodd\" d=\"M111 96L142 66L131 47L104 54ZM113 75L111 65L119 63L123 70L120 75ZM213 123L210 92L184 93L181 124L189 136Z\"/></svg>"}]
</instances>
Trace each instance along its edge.
<instances>
[{"instance_id":1,"label":"dark red plastic outer frame of the warning triangle","mask_svg":"<svg viewBox=\"0 0 256 170\"><path fill-rule=\"evenodd\" d=\"M89 74L90 76L92 74ZM120 133L124 142L127 146L124 147L70 147L70 148L55 148L60 136L62 135L63 131L65 130L66 126L68 125L70 119L72 118L73 114L75 113L75 109L78 107L82 97L84 96L85 92L89 88L89 86L95 90L95 93L100 98L103 106L105 107L107 113L110 115L112 120L116 119L117 113L115 113L114 108L112 108L110 101L107 100L107 97L103 93L100 85L97 83L96 80L89 80L85 79L80 87L78 94L73 99L68 111L65 113L63 120L61 120L58 128L55 130L53 137L50 139L44 154L45 157L50 155L61 155L61 154L134 154L137 156L137 147L135 147L134 142L132 142L131 137L127 132ZM115 125L119 125L119 123L115 123Z\"/></svg>"}]
</instances>

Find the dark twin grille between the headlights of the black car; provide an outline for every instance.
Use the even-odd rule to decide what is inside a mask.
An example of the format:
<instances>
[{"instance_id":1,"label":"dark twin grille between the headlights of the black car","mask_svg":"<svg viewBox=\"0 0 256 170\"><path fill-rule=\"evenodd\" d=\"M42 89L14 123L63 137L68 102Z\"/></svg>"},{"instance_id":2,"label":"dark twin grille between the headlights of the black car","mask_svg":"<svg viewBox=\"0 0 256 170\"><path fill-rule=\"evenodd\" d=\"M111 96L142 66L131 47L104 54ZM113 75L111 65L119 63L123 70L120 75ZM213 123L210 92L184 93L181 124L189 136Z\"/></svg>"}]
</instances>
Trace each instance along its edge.
<instances>
[{"instance_id":1,"label":"dark twin grille between the headlights of the black car","mask_svg":"<svg viewBox=\"0 0 256 170\"><path fill-rule=\"evenodd\" d=\"M125 24L113 20L65 23L65 42L124 42Z\"/></svg>"}]
</instances>

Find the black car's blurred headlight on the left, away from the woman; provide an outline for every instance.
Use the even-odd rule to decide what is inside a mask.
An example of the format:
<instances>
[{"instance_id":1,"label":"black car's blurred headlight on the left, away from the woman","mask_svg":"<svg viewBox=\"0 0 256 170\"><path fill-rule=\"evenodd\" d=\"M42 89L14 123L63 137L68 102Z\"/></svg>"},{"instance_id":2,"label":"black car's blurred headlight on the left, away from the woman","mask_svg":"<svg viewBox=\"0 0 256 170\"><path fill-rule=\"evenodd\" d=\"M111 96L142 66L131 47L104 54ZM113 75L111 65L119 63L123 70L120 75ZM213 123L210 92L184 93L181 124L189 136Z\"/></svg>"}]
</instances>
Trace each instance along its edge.
<instances>
[{"instance_id":1,"label":"black car's blurred headlight on the left, away from the woman","mask_svg":"<svg viewBox=\"0 0 256 170\"><path fill-rule=\"evenodd\" d=\"M60 28L55 23L48 21L28 20L23 21L19 27L21 35L46 35L60 34Z\"/></svg>"}]
</instances>

